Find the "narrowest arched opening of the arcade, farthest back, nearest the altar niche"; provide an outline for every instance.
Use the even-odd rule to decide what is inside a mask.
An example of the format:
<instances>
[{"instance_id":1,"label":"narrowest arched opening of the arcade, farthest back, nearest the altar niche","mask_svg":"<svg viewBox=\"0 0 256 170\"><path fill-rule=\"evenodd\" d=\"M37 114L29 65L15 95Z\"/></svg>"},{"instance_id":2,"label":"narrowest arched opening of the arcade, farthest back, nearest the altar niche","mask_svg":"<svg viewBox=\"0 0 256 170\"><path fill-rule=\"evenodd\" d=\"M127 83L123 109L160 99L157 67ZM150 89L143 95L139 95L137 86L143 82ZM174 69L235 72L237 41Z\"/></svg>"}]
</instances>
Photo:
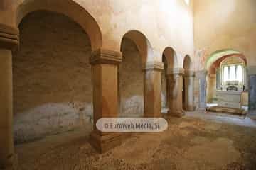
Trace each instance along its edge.
<instances>
[{"instance_id":1,"label":"narrowest arched opening of the arcade, farthest back, nearest the altar niche","mask_svg":"<svg viewBox=\"0 0 256 170\"><path fill-rule=\"evenodd\" d=\"M183 60L183 91L182 103L184 111L193 111L193 72L191 57L186 55Z\"/></svg>"}]
</instances>

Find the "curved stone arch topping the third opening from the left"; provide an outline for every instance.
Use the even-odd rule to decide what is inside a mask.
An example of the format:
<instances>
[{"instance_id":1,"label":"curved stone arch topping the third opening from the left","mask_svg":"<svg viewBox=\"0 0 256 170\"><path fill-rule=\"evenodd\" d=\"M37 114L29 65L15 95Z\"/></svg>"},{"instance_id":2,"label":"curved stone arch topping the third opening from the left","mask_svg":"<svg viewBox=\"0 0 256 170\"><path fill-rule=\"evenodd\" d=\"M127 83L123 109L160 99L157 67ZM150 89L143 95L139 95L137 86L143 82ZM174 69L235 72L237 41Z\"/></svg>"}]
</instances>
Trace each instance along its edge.
<instances>
[{"instance_id":1,"label":"curved stone arch topping the third opening from the left","mask_svg":"<svg viewBox=\"0 0 256 170\"><path fill-rule=\"evenodd\" d=\"M166 49L164 49L163 57L166 60L168 69L178 68L178 57L172 47L166 47Z\"/></svg>"}]
</instances>

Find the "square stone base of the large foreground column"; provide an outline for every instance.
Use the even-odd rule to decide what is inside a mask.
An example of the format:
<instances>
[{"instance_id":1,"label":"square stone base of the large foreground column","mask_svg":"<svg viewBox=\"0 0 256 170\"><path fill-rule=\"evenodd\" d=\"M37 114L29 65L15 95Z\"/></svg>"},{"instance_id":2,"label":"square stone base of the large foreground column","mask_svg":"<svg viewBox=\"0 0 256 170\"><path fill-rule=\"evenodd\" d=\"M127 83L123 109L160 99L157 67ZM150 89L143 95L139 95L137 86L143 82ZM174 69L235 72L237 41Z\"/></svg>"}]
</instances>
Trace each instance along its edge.
<instances>
[{"instance_id":1,"label":"square stone base of the large foreground column","mask_svg":"<svg viewBox=\"0 0 256 170\"><path fill-rule=\"evenodd\" d=\"M122 136L119 133L110 133L107 135L100 135L96 132L90 134L90 145L94 147L97 152L104 153L108 150L121 145Z\"/></svg>"}]
</instances>

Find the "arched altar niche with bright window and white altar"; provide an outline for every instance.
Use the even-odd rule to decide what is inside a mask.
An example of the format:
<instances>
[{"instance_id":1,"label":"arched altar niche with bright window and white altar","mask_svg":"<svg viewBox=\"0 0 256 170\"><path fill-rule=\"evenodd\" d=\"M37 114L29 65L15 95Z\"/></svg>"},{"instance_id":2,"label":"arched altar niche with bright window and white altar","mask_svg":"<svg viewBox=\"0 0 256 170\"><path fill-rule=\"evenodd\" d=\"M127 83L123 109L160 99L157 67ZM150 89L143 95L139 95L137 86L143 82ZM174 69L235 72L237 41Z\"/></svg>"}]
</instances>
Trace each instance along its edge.
<instances>
[{"instance_id":1,"label":"arched altar niche with bright window and white altar","mask_svg":"<svg viewBox=\"0 0 256 170\"><path fill-rule=\"evenodd\" d=\"M206 101L210 111L230 108L230 113L247 113L247 60L240 52L223 53L207 64ZM233 108L233 109L231 109Z\"/></svg>"}]
</instances>

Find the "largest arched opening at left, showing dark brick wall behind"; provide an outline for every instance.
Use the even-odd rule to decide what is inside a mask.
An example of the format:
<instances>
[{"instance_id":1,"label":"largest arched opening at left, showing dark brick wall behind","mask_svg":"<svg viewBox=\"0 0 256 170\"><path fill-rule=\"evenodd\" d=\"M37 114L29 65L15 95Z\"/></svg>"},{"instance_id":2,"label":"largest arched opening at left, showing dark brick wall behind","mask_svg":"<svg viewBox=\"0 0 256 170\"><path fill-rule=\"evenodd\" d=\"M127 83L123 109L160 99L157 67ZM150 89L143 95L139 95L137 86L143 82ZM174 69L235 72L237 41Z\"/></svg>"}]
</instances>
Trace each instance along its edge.
<instances>
[{"instance_id":1,"label":"largest arched opening at left, showing dark brick wall behind","mask_svg":"<svg viewBox=\"0 0 256 170\"><path fill-rule=\"evenodd\" d=\"M14 140L92 129L90 38L67 16L35 11L14 54Z\"/></svg>"}]
</instances>

